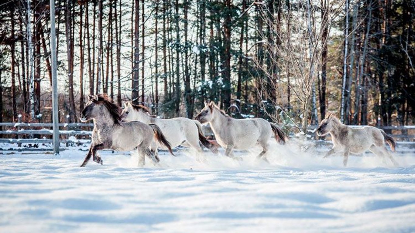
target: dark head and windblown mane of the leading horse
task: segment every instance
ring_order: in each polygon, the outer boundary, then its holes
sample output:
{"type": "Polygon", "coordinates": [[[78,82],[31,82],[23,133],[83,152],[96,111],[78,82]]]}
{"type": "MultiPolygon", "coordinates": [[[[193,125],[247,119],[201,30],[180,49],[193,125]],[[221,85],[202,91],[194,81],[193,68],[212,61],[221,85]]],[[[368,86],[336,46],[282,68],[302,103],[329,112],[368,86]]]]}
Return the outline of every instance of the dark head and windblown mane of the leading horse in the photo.
{"type": "Polygon", "coordinates": [[[91,119],[104,116],[106,113],[108,117],[114,119],[114,123],[118,124],[120,119],[120,107],[112,103],[107,94],[89,95],[89,100],[85,104],[85,108],[79,114],[79,119],[86,122],[91,119]],[[105,111],[104,109],[107,109],[105,111]]]}

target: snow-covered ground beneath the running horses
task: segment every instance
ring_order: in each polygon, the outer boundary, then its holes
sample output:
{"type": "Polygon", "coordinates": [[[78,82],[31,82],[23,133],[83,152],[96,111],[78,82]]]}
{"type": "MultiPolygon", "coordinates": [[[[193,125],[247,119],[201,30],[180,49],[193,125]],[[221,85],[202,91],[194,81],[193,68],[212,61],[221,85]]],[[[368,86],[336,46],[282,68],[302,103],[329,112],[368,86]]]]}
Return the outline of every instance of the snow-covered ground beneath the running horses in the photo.
{"type": "MultiPolygon", "coordinates": [[[[289,147],[289,146],[287,146],[289,147]]],[[[415,155],[322,158],[273,145],[242,162],[206,153],[0,154],[0,232],[414,232],[415,155]]]]}

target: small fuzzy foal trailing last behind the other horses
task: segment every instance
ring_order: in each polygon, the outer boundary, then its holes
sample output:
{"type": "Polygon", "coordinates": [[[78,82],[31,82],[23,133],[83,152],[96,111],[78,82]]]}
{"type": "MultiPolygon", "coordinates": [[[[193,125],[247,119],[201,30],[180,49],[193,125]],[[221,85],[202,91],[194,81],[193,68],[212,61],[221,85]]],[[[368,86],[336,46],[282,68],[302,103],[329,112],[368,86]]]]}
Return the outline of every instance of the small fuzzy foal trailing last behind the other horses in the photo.
{"type": "Polygon", "coordinates": [[[373,126],[363,126],[361,128],[351,128],[342,124],[333,114],[323,119],[317,128],[318,136],[325,136],[330,133],[333,141],[333,148],[327,152],[324,158],[334,154],[343,153],[343,165],[346,167],[349,153],[361,154],[370,150],[375,155],[392,161],[393,165],[398,163],[385,147],[388,143],[392,151],[395,151],[395,140],[385,133],[382,129],[373,126]]]}

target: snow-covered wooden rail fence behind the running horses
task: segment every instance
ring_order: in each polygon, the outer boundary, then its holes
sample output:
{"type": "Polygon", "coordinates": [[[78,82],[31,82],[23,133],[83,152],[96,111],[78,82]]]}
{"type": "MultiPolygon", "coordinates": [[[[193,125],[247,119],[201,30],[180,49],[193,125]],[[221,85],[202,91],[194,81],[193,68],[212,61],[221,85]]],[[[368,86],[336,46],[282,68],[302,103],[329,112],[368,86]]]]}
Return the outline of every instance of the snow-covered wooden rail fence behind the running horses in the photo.
{"type": "MultiPolygon", "coordinates": [[[[1,146],[0,150],[50,150],[52,140],[52,123],[0,123],[0,143],[17,144],[16,146],[1,146]],[[6,128],[6,129],[4,129],[6,128]],[[22,145],[24,148],[22,148],[22,145]]],[[[360,127],[360,126],[352,126],[360,127]]],[[[405,150],[415,150],[415,126],[381,126],[379,127],[390,133],[398,141],[398,146],[406,148],[405,150]]],[[[61,123],[59,124],[60,140],[63,146],[61,149],[71,146],[86,147],[90,143],[93,124],[85,123],[61,123]]],[[[308,138],[315,135],[316,126],[310,126],[308,138]]],[[[213,132],[209,125],[203,126],[206,136],[214,138],[213,132]]],[[[330,146],[331,141],[313,140],[320,146],[330,146]]]]}

